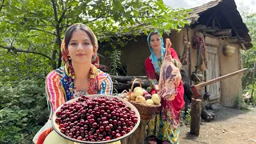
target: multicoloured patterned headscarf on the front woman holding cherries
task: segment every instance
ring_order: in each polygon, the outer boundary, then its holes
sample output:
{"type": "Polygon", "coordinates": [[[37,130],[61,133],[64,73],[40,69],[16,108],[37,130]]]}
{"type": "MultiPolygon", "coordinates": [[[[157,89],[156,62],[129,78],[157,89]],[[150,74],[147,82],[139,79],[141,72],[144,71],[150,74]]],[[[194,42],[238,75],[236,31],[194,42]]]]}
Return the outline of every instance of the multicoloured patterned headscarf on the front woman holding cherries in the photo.
{"type": "MultiPolygon", "coordinates": [[[[72,26],[70,26],[66,31],[68,31],[70,28],[74,26],[82,26],[90,30],[90,28],[86,25],[83,25],[81,23],[76,23],[72,26]]],[[[87,91],[88,94],[97,94],[98,93],[98,66],[99,66],[99,60],[98,60],[98,40],[92,30],[90,30],[91,37],[94,37],[94,54],[92,56],[92,64],[90,68],[90,89],[87,91]]],[[[89,34],[88,34],[89,35],[89,34]]],[[[92,39],[92,38],[90,38],[92,39]]],[[[61,52],[62,52],[62,61],[65,63],[64,70],[65,74],[64,77],[61,78],[62,82],[62,89],[65,91],[66,101],[73,98],[74,93],[74,69],[72,66],[71,58],[68,56],[68,50],[66,46],[66,39],[64,38],[62,41],[61,46],[61,52]]]]}

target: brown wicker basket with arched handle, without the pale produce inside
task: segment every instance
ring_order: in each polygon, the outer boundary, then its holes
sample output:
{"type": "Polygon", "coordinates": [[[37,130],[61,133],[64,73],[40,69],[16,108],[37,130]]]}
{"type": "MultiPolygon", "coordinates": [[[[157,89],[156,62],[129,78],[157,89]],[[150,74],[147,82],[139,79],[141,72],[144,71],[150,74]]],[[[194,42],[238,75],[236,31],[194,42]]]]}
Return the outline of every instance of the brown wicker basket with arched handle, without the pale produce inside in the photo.
{"type": "Polygon", "coordinates": [[[158,110],[160,110],[161,104],[160,105],[146,105],[146,103],[138,103],[138,102],[132,101],[130,99],[130,97],[131,97],[132,91],[134,90],[134,83],[136,81],[138,81],[139,86],[142,87],[141,80],[139,78],[135,78],[134,82],[130,88],[130,91],[128,92],[128,95],[129,95],[128,101],[130,103],[132,103],[137,108],[142,119],[150,119],[152,115],[154,115],[155,113],[158,112],[158,110]]]}

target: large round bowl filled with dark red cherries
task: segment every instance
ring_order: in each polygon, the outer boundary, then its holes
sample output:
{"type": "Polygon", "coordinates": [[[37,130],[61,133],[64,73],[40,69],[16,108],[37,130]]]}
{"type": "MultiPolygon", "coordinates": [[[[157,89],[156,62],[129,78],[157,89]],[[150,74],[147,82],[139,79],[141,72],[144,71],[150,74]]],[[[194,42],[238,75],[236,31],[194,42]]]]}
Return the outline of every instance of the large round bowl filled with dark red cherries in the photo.
{"type": "Polygon", "coordinates": [[[55,110],[52,124],[63,138],[79,143],[110,143],[126,138],[140,115],[122,98],[93,94],[74,98],[55,110]]]}

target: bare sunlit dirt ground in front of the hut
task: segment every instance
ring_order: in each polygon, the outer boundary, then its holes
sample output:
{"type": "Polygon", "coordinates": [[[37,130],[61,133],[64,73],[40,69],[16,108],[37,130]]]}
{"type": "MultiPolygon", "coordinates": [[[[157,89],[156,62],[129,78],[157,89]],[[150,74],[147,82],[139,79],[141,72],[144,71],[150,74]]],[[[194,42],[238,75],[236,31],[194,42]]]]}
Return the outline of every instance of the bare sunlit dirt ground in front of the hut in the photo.
{"type": "Polygon", "coordinates": [[[189,126],[181,126],[179,143],[256,144],[256,108],[238,110],[219,106],[212,122],[200,126],[198,137],[190,134],[189,126]]]}

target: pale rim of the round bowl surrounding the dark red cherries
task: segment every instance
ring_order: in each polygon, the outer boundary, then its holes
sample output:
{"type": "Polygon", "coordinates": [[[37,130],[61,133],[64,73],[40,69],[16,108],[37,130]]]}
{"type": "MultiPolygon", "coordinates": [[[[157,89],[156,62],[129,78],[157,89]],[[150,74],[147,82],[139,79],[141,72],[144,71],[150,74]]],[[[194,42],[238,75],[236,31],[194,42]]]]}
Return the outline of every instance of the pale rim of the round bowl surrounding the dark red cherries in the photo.
{"type": "MultiPolygon", "coordinates": [[[[118,98],[118,97],[116,97],[116,96],[102,95],[102,94],[92,94],[92,95],[86,95],[86,96],[91,97],[91,98],[98,98],[98,97],[101,97],[101,96],[104,96],[104,97],[106,97],[106,98],[118,98]]],[[[66,103],[75,102],[75,101],[77,101],[77,100],[78,100],[78,98],[74,98],[74,99],[71,99],[70,101],[68,101],[68,102],[66,102],[66,103]]],[[[63,105],[62,105],[62,106],[59,106],[58,109],[55,110],[54,115],[53,115],[53,118],[52,118],[52,120],[51,120],[52,125],[53,125],[53,127],[54,127],[54,130],[55,130],[59,135],[61,135],[63,138],[66,138],[66,139],[68,139],[68,140],[70,140],[70,141],[73,141],[73,142],[79,142],[79,143],[94,143],[94,144],[96,144],[96,143],[110,143],[110,142],[119,141],[119,140],[121,140],[122,138],[126,138],[127,136],[129,136],[130,134],[132,134],[132,133],[138,128],[138,125],[139,125],[141,119],[140,119],[140,115],[139,115],[139,113],[138,113],[138,110],[136,109],[136,107],[135,107],[134,105],[132,105],[130,102],[127,102],[127,101],[123,100],[122,98],[118,98],[118,100],[124,102],[124,103],[126,104],[126,106],[130,107],[130,110],[134,110],[135,116],[138,117],[138,122],[137,122],[136,125],[134,126],[134,129],[133,129],[133,130],[130,130],[129,133],[123,135],[122,137],[115,138],[115,139],[111,139],[110,141],[90,142],[90,141],[81,141],[81,140],[77,140],[77,139],[74,139],[74,138],[70,138],[70,137],[66,136],[65,134],[62,134],[62,132],[61,132],[61,131],[59,130],[59,128],[58,128],[58,124],[55,122],[55,119],[57,118],[56,112],[57,112],[58,110],[60,110],[63,105]]]]}

